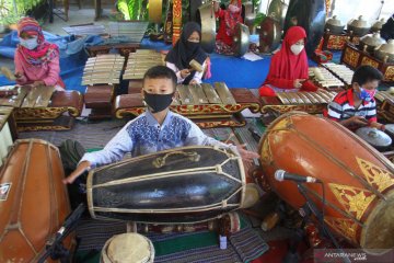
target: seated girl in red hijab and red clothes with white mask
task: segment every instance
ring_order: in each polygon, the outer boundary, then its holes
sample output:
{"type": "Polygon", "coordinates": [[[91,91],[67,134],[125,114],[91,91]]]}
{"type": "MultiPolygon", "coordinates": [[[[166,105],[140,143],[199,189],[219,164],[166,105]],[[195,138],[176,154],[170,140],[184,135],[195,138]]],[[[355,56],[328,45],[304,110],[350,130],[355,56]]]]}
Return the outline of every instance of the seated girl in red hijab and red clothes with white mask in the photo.
{"type": "Polygon", "coordinates": [[[316,91],[308,81],[306,33],[301,26],[291,26],[282,46],[270,62],[269,72],[259,89],[262,96],[275,96],[276,92],[316,91]]]}

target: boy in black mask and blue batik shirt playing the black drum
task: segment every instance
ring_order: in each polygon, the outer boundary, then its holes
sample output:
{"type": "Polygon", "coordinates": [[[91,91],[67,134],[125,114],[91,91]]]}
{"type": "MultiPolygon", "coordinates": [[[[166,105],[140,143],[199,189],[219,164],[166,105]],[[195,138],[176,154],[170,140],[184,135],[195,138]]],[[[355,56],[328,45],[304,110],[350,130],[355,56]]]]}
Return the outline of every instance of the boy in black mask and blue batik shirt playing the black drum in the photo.
{"type": "Polygon", "coordinates": [[[164,66],[149,69],[143,77],[142,96],[147,111],[117,133],[101,151],[85,153],[76,171],[63,183],[73,183],[84,171],[120,161],[127,152],[132,157],[182,146],[204,145],[236,149],[243,160],[258,155],[241,146],[230,146],[206,136],[188,118],[170,111],[176,88],[176,76],[164,66]]]}

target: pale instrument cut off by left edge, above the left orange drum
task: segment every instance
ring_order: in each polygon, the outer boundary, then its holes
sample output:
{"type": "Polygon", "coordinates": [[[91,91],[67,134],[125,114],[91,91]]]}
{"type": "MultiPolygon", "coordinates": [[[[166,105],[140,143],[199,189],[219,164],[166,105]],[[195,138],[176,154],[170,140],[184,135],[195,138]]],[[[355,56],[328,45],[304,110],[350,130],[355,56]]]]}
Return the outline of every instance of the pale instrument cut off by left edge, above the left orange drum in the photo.
{"type": "Polygon", "coordinates": [[[0,106],[0,168],[16,137],[18,133],[13,117],[13,107],[0,106]]]}

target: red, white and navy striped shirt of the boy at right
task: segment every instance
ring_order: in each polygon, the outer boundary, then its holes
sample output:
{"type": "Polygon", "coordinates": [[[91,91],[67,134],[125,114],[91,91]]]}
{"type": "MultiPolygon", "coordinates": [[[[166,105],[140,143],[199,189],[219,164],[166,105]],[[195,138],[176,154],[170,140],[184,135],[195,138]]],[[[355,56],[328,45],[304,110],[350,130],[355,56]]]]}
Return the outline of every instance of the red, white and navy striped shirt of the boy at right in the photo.
{"type": "Polygon", "coordinates": [[[361,116],[369,123],[376,122],[376,102],[372,99],[370,102],[362,101],[359,107],[355,107],[354,89],[339,92],[334,100],[328,103],[328,111],[324,115],[333,121],[340,122],[352,116],[361,116]]]}

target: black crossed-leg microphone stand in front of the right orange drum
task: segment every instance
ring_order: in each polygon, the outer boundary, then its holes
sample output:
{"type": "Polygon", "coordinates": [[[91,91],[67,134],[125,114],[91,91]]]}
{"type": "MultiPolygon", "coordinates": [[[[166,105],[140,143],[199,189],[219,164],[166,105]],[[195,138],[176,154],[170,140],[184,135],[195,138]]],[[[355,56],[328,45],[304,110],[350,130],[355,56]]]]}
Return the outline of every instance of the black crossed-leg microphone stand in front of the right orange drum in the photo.
{"type": "MultiPolygon", "coordinates": [[[[293,263],[293,262],[299,261],[300,256],[297,252],[297,248],[304,236],[303,228],[306,225],[306,222],[310,221],[312,213],[317,218],[317,221],[323,229],[323,233],[325,233],[332,240],[335,248],[337,248],[337,250],[339,250],[339,253],[343,253],[345,255],[344,250],[339,247],[339,243],[335,239],[332,231],[325,227],[324,215],[322,211],[318,210],[318,208],[316,207],[316,204],[309,197],[308,191],[306,191],[305,186],[303,185],[303,183],[297,183],[297,187],[298,187],[300,194],[302,194],[302,196],[305,198],[306,203],[300,208],[300,214],[303,217],[302,225],[299,229],[296,229],[294,236],[293,236],[292,240],[290,241],[289,252],[287,253],[283,262],[285,263],[290,263],[290,262],[293,263]]],[[[322,184],[322,187],[324,191],[323,184],[322,184]]],[[[323,194],[323,196],[324,196],[324,194],[323,194]]],[[[323,199],[323,205],[324,205],[324,202],[325,201],[323,199]]],[[[351,261],[347,256],[345,256],[343,259],[343,262],[350,263],[351,261]]]]}

